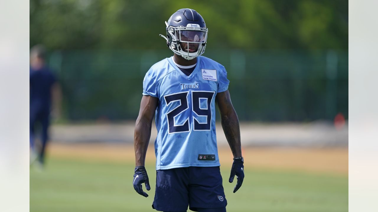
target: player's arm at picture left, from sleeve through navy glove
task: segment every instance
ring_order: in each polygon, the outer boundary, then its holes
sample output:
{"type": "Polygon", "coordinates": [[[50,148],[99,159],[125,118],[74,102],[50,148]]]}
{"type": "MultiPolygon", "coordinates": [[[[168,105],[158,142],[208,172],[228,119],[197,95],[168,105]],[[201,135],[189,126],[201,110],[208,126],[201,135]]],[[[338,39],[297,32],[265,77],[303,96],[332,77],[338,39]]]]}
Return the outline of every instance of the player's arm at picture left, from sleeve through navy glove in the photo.
{"type": "Polygon", "coordinates": [[[151,136],[151,126],[153,115],[158,104],[158,98],[144,95],[142,97],[139,115],[135,123],[134,132],[134,149],[135,149],[135,171],[133,178],[133,186],[135,191],[148,197],[148,194],[143,191],[142,183],[146,185],[146,189],[150,190],[150,183],[147,175],[144,162],[146,160],[146,152],[151,136]]]}

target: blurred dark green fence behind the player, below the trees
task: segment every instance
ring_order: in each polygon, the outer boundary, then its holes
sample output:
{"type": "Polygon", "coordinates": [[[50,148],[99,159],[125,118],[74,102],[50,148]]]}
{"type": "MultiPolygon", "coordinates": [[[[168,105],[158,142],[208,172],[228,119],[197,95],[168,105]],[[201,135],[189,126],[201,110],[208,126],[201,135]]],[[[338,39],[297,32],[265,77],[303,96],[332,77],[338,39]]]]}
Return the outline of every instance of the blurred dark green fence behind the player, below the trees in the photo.
{"type": "MultiPolygon", "coordinates": [[[[145,73],[166,50],[55,51],[49,64],[70,121],[135,120],[145,73]]],[[[348,52],[338,50],[206,50],[226,67],[240,120],[333,120],[348,117],[348,52]]]]}

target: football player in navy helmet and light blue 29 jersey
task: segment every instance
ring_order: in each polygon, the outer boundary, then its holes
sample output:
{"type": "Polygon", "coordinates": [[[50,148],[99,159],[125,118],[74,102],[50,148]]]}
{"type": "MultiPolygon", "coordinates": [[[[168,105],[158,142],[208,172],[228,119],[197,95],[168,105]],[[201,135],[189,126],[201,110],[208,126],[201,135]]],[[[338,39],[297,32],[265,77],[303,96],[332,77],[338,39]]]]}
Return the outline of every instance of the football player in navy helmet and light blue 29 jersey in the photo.
{"type": "Polygon", "coordinates": [[[166,22],[167,46],[174,55],[153,65],[143,80],[143,97],[135,124],[133,186],[144,197],[144,167],[152,119],[155,140],[156,191],[152,207],[159,211],[224,212],[227,200],[222,185],[215,133],[215,103],[234,161],[229,182],[237,177],[236,192],[244,178],[240,129],[228,92],[225,67],[201,56],[208,28],[198,12],[180,9],[166,22]]]}

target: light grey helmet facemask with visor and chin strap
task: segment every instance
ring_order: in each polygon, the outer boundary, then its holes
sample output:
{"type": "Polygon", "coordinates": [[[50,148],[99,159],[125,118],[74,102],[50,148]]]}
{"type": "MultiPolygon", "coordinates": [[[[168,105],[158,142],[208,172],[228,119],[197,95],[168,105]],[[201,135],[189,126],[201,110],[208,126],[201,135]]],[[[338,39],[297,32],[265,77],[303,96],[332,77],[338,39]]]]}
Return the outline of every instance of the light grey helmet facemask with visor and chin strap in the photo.
{"type": "Polygon", "coordinates": [[[197,24],[188,26],[168,26],[167,22],[167,45],[174,53],[181,55],[186,60],[192,60],[204,53],[208,29],[200,28],[197,24]]]}

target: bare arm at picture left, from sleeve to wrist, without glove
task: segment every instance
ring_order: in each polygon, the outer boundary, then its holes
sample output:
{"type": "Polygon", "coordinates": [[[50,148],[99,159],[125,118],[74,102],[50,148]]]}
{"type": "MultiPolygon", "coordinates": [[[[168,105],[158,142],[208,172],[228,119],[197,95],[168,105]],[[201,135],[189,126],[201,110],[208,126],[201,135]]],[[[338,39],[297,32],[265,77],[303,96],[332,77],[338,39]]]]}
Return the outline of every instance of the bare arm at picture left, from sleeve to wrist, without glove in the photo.
{"type": "Polygon", "coordinates": [[[134,131],[135,166],[144,166],[147,147],[151,137],[152,119],[155,115],[157,105],[158,98],[149,95],[142,97],[134,131]]]}

